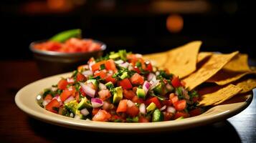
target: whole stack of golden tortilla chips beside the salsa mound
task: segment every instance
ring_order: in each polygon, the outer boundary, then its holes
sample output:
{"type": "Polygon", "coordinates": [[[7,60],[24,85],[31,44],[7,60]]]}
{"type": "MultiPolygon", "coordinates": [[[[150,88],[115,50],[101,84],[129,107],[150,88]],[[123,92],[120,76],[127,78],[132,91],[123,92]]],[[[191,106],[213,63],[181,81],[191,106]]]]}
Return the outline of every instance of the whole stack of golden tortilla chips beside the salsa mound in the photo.
{"type": "Polygon", "coordinates": [[[189,90],[196,89],[201,95],[199,106],[222,104],[256,87],[256,71],[248,66],[247,54],[199,52],[201,45],[202,41],[192,41],[169,51],[143,56],[179,76],[189,90]]]}

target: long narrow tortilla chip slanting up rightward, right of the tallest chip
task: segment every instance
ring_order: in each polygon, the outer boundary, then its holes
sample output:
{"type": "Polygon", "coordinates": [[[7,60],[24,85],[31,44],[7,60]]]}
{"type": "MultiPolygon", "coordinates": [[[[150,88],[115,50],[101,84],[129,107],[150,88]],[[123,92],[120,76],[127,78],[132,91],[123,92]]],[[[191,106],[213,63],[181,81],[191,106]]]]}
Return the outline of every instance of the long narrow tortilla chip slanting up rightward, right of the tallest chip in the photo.
{"type": "Polygon", "coordinates": [[[213,54],[198,70],[184,79],[186,87],[194,89],[199,84],[206,82],[238,53],[238,51],[234,51],[231,54],[213,54]]]}

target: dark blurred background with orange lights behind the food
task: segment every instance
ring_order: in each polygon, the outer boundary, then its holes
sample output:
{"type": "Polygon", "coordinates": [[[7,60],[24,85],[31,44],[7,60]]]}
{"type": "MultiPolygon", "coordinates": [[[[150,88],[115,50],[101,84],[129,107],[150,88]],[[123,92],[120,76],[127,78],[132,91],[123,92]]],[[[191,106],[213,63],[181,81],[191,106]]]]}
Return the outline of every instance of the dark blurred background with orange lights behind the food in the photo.
{"type": "Polygon", "coordinates": [[[32,59],[32,41],[76,28],[104,41],[107,51],[147,54],[202,40],[201,51],[239,50],[255,58],[255,14],[248,1],[1,0],[0,8],[1,60],[32,59]]]}

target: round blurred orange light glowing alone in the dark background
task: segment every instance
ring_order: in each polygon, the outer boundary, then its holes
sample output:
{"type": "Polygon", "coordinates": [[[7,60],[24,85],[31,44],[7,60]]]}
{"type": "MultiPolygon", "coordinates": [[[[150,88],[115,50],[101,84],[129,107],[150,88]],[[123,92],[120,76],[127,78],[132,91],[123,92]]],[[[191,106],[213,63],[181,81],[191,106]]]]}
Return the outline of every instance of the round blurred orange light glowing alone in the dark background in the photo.
{"type": "Polygon", "coordinates": [[[166,19],[166,28],[171,33],[178,33],[182,30],[183,26],[183,18],[178,14],[170,15],[166,19]]]}

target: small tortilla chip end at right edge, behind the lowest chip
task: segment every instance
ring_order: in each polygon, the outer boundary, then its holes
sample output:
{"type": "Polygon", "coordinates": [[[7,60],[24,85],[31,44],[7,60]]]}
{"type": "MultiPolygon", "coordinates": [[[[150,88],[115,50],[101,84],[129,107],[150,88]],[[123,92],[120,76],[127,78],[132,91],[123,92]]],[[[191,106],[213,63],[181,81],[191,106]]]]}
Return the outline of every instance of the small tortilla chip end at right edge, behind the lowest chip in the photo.
{"type": "Polygon", "coordinates": [[[237,83],[236,86],[242,89],[240,93],[250,92],[252,89],[256,88],[256,79],[246,79],[237,83]]]}

